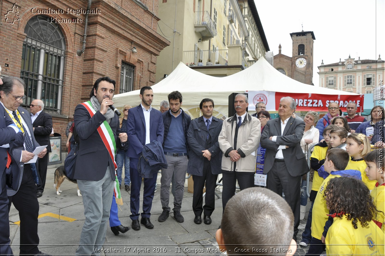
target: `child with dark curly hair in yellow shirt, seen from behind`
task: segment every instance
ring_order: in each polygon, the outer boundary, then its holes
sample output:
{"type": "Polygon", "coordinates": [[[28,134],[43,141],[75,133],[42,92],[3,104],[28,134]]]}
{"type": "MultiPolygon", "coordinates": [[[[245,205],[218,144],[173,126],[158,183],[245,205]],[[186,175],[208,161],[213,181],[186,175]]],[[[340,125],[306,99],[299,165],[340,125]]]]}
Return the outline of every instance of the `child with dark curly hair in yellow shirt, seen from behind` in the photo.
{"type": "Polygon", "coordinates": [[[328,256],[384,255],[384,233],[372,221],[378,211],[361,180],[331,179],[324,197],[328,209],[334,212],[325,240],[328,256]]]}

